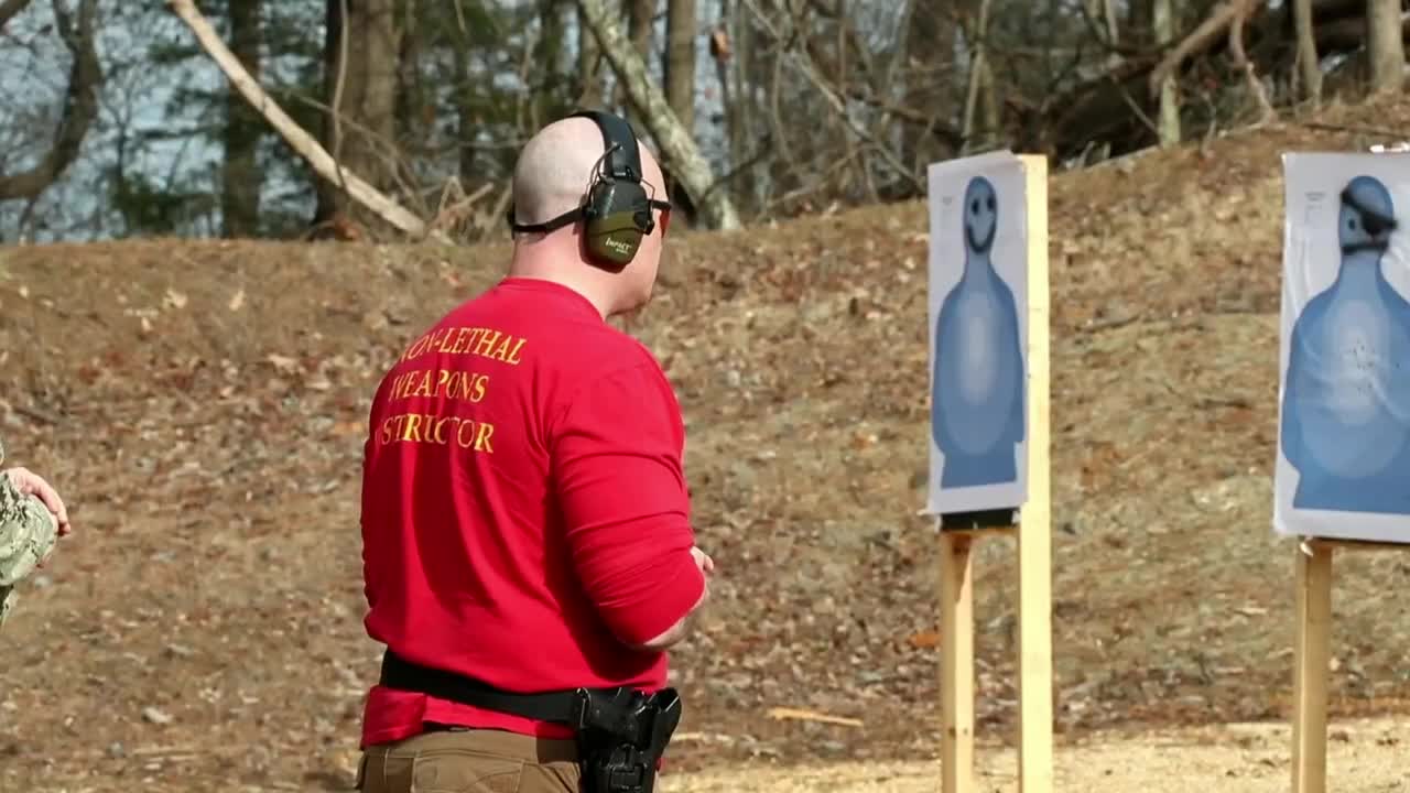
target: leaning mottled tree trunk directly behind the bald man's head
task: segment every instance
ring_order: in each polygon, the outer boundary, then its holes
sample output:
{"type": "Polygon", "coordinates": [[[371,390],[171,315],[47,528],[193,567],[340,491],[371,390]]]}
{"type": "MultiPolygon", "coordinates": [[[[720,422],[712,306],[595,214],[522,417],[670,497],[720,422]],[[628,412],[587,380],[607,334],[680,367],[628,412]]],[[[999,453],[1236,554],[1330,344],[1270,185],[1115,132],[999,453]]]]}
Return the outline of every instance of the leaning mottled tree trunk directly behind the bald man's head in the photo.
{"type": "Polygon", "coordinates": [[[578,0],[582,20],[602,45],[618,80],[627,96],[642,107],[646,124],[681,185],[701,207],[705,222],[713,229],[739,229],[739,214],[725,190],[709,190],[713,176],[709,162],[701,155],[695,140],[671,113],[661,89],[646,73],[646,63],[616,27],[603,0],[578,0]]]}

